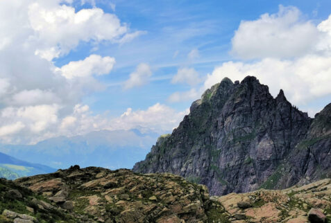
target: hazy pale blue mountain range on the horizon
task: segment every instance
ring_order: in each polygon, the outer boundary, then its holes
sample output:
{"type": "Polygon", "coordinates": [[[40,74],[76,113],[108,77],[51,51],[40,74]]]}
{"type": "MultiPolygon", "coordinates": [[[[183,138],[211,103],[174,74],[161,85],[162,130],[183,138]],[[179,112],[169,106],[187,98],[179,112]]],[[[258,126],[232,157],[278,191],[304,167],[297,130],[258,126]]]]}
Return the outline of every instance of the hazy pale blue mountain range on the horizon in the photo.
{"type": "Polygon", "coordinates": [[[154,132],[102,130],[74,137],[60,136],[35,145],[0,145],[0,152],[57,169],[75,164],[132,168],[144,159],[156,139],[158,134],[154,132]]]}

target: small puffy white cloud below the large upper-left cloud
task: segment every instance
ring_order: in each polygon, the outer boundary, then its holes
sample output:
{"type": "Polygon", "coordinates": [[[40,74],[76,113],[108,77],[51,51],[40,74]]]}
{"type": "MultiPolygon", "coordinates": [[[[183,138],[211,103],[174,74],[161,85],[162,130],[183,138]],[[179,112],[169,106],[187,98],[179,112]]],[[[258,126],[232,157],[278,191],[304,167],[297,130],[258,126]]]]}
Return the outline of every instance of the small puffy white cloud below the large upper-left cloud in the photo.
{"type": "Polygon", "coordinates": [[[114,57],[101,57],[90,55],[85,60],[71,61],[69,64],[57,69],[67,79],[82,78],[92,75],[108,74],[115,64],[114,57]]]}

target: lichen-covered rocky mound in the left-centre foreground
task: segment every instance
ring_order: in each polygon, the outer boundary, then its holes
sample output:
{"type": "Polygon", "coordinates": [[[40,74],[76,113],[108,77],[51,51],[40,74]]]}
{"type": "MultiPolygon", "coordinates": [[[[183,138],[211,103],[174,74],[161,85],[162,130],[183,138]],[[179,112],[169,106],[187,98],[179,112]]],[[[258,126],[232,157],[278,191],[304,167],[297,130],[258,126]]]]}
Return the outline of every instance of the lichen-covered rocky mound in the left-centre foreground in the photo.
{"type": "MultiPolygon", "coordinates": [[[[172,174],[69,168],[61,170],[61,176],[52,173],[15,182],[43,193],[80,222],[207,222],[211,210],[218,213],[214,220],[228,216],[221,204],[208,205],[205,186],[172,174]],[[51,184],[56,187],[49,187],[51,184]],[[59,197],[63,198],[60,202],[56,200],[59,197]]],[[[35,204],[42,205],[40,201],[35,204]]]]}

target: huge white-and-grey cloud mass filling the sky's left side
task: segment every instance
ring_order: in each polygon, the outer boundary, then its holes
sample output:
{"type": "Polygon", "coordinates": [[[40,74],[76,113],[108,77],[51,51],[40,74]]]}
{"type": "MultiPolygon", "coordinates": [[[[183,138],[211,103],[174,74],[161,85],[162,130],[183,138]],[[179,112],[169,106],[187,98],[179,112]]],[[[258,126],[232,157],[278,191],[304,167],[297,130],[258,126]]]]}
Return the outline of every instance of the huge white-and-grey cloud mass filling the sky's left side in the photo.
{"type": "Polygon", "coordinates": [[[75,10],[71,3],[0,1],[1,143],[36,143],[106,126],[106,118],[80,102],[87,93],[103,89],[94,77],[110,73],[114,58],[90,55],[62,67],[52,60],[80,42],[121,44],[142,32],[131,32],[101,8],[75,10]]]}

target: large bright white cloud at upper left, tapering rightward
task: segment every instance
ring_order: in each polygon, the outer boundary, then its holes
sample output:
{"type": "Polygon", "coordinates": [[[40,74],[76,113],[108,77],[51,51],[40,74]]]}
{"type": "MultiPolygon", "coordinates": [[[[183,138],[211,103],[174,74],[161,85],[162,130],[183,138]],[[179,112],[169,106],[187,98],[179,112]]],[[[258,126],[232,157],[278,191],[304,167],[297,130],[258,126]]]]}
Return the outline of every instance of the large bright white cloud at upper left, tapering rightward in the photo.
{"type": "Polygon", "coordinates": [[[31,42],[38,42],[36,54],[47,60],[64,55],[78,46],[80,41],[128,42],[142,31],[129,33],[116,15],[101,8],[82,9],[75,12],[71,6],[46,7],[36,2],[28,6],[28,21],[35,32],[31,42]]]}

